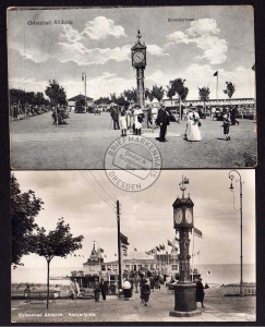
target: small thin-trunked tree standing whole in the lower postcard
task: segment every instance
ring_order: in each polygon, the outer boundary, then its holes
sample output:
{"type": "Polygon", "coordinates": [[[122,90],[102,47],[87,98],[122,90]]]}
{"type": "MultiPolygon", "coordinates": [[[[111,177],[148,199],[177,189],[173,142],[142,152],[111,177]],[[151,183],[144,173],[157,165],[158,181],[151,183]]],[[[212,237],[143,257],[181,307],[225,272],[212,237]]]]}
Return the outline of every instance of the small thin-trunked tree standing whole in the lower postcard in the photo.
{"type": "Polygon", "coordinates": [[[48,233],[44,228],[39,228],[37,234],[33,235],[32,243],[35,249],[33,253],[44,256],[47,262],[47,308],[49,308],[49,277],[50,262],[55,256],[67,257],[68,254],[82,249],[84,237],[73,238],[69,223],[64,223],[63,218],[57,222],[55,230],[48,233]]]}

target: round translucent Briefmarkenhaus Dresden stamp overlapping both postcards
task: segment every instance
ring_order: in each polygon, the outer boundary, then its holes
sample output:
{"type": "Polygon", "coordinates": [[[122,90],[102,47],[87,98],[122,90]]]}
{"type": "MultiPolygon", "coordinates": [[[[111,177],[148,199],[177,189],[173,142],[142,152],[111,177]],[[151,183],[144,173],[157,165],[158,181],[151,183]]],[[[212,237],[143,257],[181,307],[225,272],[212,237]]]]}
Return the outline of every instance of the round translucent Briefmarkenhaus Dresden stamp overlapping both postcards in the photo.
{"type": "Polygon", "coordinates": [[[140,192],[156,182],[161,156],[157,146],[140,135],[119,137],[105,155],[106,174],[110,182],[127,192],[140,192]]]}

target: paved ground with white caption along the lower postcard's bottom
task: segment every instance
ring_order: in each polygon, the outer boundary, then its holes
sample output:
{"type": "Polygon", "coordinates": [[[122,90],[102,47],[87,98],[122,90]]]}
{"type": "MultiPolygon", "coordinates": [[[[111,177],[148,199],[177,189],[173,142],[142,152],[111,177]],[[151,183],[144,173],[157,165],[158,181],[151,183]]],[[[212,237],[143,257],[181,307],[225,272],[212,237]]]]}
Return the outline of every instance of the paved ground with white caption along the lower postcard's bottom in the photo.
{"type": "MultiPolygon", "coordinates": [[[[239,299],[239,298],[238,298],[239,299]]],[[[50,302],[49,310],[46,310],[46,302],[33,301],[25,303],[24,300],[12,301],[12,322],[13,323],[84,323],[84,322],[157,322],[157,323],[206,323],[206,322],[255,322],[255,313],[246,313],[242,307],[249,303],[254,304],[255,296],[240,298],[241,304],[237,306],[229,304],[231,298],[220,298],[220,302],[227,305],[215,303],[213,295],[205,298],[205,307],[198,311],[202,315],[194,317],[171,317],[169,312],[173,311],[174,295],[166,287],[160,291],[150,293],[148,306],[144,306],[138,293],[133,294],[129,301],[118,299],[116,295],[107,296],[107,301],[96,303],[94,300],[57,300],[50,302]],[[240,311],[241,307],[241,311],[240,311]]]]}

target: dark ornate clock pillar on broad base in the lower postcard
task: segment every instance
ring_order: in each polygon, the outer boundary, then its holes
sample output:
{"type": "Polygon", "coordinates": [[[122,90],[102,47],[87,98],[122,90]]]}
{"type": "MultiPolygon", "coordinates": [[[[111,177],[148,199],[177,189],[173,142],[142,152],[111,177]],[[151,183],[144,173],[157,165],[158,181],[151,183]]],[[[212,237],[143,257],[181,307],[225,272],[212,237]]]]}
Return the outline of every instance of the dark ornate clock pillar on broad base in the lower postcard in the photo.
{"type": "Polygon", "coordinates": [[[182,177],[180,182],[180,190],[182,197],[173,203],[173,228],[179,232],[179,270],[180,278],[174,286],[174,311],[169,312],[170,316],[191,317],[201,315],[202,312],[196,310],[195,303],[195,283],[191,281],[190,267],[190,239],[189,234],[193,229],[193,202],[190,195],[185,197],[184,191],[189,184],[189,180],[182,177]]]}

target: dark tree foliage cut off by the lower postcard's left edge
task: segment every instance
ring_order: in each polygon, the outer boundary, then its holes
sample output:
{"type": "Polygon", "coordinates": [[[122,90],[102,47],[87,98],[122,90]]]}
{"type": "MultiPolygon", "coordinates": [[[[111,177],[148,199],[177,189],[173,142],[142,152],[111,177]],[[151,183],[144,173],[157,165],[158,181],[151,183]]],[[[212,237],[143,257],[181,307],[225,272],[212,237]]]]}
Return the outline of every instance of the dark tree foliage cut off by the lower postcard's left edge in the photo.
{"type": "Polygon", "coordinates": [[[12,229],[12,264],[15,268],[21,264],[23,255],[33,250],[31,238],[36,230],[35,217],[41,210],[43,201],[33,191],[22,193],[20,184],[11,174],[11,229],[12,229]]]}

